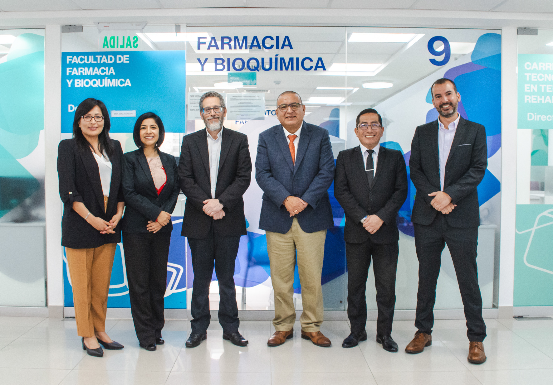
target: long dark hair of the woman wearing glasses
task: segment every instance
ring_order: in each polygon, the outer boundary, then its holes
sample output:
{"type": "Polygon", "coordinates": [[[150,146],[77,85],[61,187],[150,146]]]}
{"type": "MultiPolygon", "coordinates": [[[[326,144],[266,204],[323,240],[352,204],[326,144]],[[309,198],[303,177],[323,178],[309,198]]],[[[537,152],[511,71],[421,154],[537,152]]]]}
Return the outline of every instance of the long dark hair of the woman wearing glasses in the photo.
{"type": "Polygon", "coordinates": [[[90,147],[93,150],[92,145],[86,140],[85,135],[82,134],[82,130],[79,127],[79,122],[84,115],[86,115],[94,107],[100,107],[102,115],[104,117],[104,126],[102,132],[98,134],[98,150],[102,153],[106,153],[108,159],[113,155],[114,147],[111,144],[111,139],[109,139],[109,128],[111,123],[109,122],[109,112],[106,108],[106,105],[102,101],[99,101],[95,98],[88,98],[82,101],[79,106],[75,109],[75,117],[73,118],[73,138],[77,142],[77,146],[81,149],[87,149],[90,147]]]}

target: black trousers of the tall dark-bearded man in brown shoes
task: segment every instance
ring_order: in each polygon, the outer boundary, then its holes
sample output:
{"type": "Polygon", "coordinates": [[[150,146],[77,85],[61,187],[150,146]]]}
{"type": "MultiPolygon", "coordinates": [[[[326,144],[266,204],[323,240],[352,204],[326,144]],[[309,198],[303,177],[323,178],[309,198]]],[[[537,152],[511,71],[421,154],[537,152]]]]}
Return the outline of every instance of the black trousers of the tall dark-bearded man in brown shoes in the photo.
{"type": "Polygon", "coordinates": [[[468,340],[482,342],[486,338],[486,324],[482,319],[482,296],[476,265],[478,228],[452,228],[441,213],[436,215],[430,225],[415,223],[414,226],[416,255],[419,259],[416,328],[422,333],[432,333],[436,283],[442,251],[447,244],[465,308],[468,340]]]}

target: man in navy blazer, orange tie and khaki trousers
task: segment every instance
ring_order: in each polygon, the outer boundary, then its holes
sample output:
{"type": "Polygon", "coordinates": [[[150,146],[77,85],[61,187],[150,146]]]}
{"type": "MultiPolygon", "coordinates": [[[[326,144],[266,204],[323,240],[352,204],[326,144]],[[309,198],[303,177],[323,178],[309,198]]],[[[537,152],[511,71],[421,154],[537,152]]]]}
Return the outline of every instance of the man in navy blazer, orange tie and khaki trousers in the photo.
{"type": "Polygon", "coordinates": [[[267,235],[275,300],[276,332],[267,345],[278,346],[294,336],[297,257],[301,337],[330,346],[320,332],[326,229],[334,225],[327,193],[334,178],[330,138],[324,128],[304,122],[305,106],[298,93],[281,93],[276,106],[280,124],[259,134],[255,160],[255,180],[263,190],[259,228],[267,235]]]}

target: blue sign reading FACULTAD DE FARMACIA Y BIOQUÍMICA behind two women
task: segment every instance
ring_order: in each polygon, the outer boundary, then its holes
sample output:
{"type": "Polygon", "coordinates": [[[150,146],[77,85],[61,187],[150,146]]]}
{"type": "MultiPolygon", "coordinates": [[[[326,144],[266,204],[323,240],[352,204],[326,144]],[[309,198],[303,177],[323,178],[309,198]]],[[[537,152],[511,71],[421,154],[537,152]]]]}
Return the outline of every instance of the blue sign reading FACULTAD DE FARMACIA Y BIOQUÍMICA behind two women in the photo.
{"type": "Polygon", "coordinates": [[[154,112],[165,131],[186,132],[185,51],[63,52],[61,132],[71,133],[86,98],[106,104],[112,133],[132,133],[137,117],[154,112]]]}

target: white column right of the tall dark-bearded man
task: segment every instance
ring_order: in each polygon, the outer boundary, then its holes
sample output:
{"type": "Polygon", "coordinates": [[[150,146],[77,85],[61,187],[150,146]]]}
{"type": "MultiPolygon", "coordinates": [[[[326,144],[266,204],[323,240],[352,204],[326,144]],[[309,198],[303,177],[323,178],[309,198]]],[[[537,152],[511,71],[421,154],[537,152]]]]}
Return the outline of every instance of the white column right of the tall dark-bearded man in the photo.
{"type": "MultiPolygon", "coordinates": [[[[501,36],[501,240],[499,254],[499,317],[513,317],[515,213],[517,208],[517,28],[501,36]]],[[[526,173],[530,175],[530,170],[526,173]]],[[[530,193],[530,183],[528,183],[530,193]]]]}

